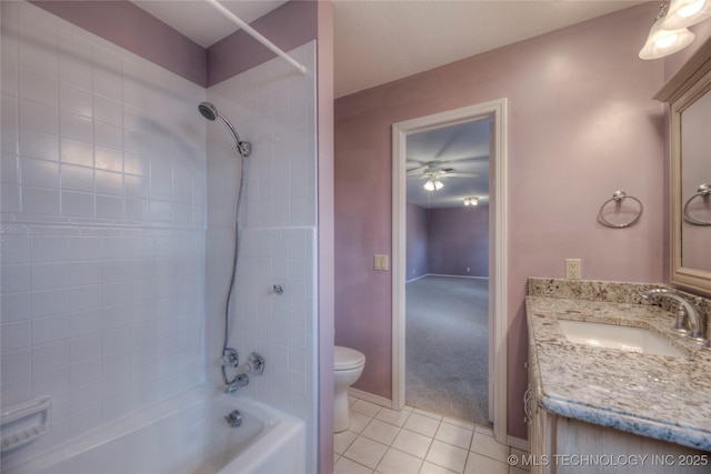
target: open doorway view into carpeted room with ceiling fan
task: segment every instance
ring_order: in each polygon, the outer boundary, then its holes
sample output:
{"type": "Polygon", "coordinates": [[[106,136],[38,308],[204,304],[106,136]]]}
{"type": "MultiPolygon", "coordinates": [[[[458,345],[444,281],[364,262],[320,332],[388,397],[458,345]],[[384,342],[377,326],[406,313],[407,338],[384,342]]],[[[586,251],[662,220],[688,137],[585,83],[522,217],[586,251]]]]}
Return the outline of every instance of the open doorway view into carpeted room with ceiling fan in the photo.
{"type": "Polygon", "coordinates": [[[485,118],[405,139],[405,403],[479,425],[491,424],[491,127],[485,118]]]}

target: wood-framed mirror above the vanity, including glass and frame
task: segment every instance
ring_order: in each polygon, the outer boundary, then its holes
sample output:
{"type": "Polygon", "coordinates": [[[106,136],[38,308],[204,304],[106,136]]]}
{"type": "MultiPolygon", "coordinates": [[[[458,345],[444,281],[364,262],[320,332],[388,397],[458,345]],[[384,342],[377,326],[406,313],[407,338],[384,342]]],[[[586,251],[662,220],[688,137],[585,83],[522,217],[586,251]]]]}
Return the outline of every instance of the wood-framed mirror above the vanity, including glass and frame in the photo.
{"type": "Polygon", "coordinates": [[[657,99],[671,105],[670,281],[711,294],[711,39],[657,99]]]}

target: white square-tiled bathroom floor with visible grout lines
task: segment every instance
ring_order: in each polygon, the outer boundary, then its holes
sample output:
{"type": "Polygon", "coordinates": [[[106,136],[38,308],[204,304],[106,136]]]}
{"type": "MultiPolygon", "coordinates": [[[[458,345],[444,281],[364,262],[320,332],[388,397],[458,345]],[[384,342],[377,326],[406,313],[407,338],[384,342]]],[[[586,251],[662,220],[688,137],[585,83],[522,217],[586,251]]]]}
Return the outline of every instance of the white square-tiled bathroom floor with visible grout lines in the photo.
{"type": "Polygon", "coordinates": [[[490,427],[410,406],[349,403],[351,425],[334,435],[337,474],[528,474],[507,463],[524,453],[497,443],[490,427]]]}

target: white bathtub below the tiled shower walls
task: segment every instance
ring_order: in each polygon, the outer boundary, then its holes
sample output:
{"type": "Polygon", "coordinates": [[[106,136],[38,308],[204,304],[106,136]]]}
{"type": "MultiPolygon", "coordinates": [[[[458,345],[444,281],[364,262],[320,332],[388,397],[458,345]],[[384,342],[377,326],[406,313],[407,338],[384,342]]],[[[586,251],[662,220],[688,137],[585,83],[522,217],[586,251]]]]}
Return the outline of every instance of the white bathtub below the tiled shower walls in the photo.
{"type": "Polygon", "coordinates": [[[2,472],[306,474],[306,423],[202,385],[2,472]],[[232,410],[239,427],[223,418],[232,410]]]}

